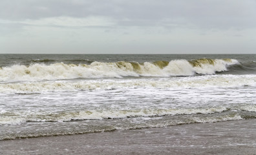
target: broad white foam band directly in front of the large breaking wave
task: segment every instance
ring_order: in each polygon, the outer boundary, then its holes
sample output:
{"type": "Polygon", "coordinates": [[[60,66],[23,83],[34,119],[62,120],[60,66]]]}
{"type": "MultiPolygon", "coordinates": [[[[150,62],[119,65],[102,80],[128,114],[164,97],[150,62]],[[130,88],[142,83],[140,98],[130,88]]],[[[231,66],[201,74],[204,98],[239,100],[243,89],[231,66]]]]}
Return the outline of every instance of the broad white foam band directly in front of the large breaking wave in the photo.
{"type": "Polygon", "coordinates": [[[180,78],[98,79],[77,81],[34,81],[0,83],[0,92],[40,93],[74,92],[81,90],[112,90],[122,88],[231,88],[256,86],[256,75],[215,75],[180,78]]]}

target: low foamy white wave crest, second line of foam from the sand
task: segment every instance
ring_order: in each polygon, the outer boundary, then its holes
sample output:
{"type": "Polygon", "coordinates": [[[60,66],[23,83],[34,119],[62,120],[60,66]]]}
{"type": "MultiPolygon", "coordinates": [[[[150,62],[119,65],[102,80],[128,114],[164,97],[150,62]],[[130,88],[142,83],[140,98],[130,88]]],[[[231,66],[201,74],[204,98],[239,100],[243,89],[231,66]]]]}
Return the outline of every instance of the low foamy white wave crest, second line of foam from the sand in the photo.
{"type": "Polygon", "coordinates": [[[26,121],[70,121],[83,119],[107,119],[107,118],[131,118],[150,117],[165,115],[190,115],[190,114],[213,114],[227,110],[226,107],[219,108],[165,108],[165,109],[134,109],[134,110],[82,110],[78,112],[40,113],[27,112],[2,114],[0,124],[20,124],[26,121]]]}

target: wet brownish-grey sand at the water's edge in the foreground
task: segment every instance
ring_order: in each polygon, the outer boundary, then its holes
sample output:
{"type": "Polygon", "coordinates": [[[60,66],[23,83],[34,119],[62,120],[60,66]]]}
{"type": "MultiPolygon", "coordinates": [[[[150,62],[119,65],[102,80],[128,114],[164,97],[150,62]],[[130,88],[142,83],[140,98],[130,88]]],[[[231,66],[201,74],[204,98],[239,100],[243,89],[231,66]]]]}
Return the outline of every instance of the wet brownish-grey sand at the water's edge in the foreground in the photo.
{"type": "Polygon", "coordinates": [[[256,119],[5,140],[0,154],[256,154],[256,119]]]}

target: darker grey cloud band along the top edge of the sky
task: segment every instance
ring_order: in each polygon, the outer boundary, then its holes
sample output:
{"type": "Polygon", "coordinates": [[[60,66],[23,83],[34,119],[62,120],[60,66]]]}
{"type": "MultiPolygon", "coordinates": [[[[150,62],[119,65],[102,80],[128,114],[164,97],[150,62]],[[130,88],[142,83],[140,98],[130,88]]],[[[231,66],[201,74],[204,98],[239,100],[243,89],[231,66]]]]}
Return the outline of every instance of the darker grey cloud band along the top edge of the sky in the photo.
{"type": "Polygon", "coordinates": [[[0,18],[107,16],[120,26],[251,28],[256,26],[255,8],[254,0],[2,0],[0,18]]]}

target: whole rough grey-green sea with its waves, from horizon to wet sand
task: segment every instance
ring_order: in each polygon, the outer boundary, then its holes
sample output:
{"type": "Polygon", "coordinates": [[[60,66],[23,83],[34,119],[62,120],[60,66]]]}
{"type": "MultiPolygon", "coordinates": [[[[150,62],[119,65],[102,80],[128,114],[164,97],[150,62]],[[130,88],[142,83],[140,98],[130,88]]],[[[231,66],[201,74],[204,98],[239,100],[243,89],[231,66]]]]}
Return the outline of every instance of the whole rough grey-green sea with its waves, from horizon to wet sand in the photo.
{"type": "Polygon", "coordinates": [[[256,55],[0,54],[0,140],[256,118],[256,55]]]}

